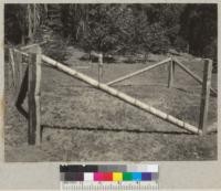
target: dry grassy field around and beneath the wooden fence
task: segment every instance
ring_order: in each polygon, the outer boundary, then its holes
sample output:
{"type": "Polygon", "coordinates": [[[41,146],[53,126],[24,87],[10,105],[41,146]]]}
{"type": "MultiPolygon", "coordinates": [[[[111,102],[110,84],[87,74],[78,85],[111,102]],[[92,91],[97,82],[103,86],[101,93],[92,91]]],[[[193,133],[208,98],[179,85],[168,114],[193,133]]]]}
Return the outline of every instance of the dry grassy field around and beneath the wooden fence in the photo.
{"type": "MultiPolygon", "coordinates": [[[[66,63],[97,78],[97,65],[66,63]]],[[[202,61],[180,57],[202,76],[202,61]]],[[[143,68],[147,64],[105,64],[103,82],[143,68]]],[[[138,108],[113,98],[53,68],[42,67],[42,144],[29,146],[28,123],[15,109],[6,64],[6,161],[155,161],[217,160],[217,134],[197,136],[138,108]]],[[[175,87],[168,88],[165,66],[117,85],[119,91],[198,126],[201,86],[176,67],[175,87]]],[[[217,75],[212,76],[217,87],[217,75]]],[[[25,104],[24,104],[25,105],[25,104]]],[[[217,123],[217,98],[210,98],[209,126],[217,123]]]]}

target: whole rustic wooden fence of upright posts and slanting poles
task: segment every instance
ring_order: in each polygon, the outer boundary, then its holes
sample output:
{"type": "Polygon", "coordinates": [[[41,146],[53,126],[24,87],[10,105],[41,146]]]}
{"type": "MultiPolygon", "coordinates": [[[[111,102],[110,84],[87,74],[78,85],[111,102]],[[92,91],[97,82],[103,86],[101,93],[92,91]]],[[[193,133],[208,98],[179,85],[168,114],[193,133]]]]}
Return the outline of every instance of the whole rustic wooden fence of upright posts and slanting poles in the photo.
{"type": "MultiPolygon", "coordinates": [[[[22,49],[24,51],[25,49],[22,49]]],[[[28,118],[29,121],[29,131],[28,131],[28,141],[30,145],[40,145],[41,142],[41,118],[40,118],[40,83],[41,83],[41,65],[46,64],[52,66],[53,68],[56,68],[74,78],[77,78],[80,81],[83,81],[86,84],[90,84],[91,86],[98,88],[118,99],[124,100],[127,104],[130,104],[141,110],[145,110],[160,119],[164,119],[168,123],[171,123],[173,125],[177,125],[180,128],[183,128],[188,131],[191,131],[193,134],[206,134],[207,132],[207,118],[208,118],[208,107],[209,107],[209,97],[210,97],[210,91],[213,94],[217,94],[214,89],[211,88],[211,72],[212,72],[212,61],[211,60],[204,60],[204,71],[203,71],[203,79],[201,79],[199,76],[197,76],[193,72],[191,72],[189,68],[187,68],[181,62],[179,62],[177,59],[169,57],[165,61],[161,61],[157,64],[147,66],[143,70],[139,70],[137,72],[130,73],[128,75],[122,76],[115,81],[112,81],[107,84],[103,84],[98,81],[83,74],[80,72],[76,72],[73,68],[70,68],[65,66],[64,64],[54,61],[53,59],[43,55],[41,53],[40,46],[33,45],[31,49],[29,49],[27,52],[22,52],[18,49],[10,49],[10,63],[13,67],[12,76],[15,76],[15,68],[18,67],[20,71],[19,76],[19,83],[18,83],[18,96],[15,99],[17,108],[24,115],[24,117],[28,118]],[[23,64],[25,67],[25,71],[23,75],[21,75],[21,65],[22,61],[25,61],[28,64],[23,64]],[[168,64],[169,66],[169,74],[168,74],[168,87],[172,87],[173,83],[173,75],[175,75],[175,66],[179,65],[183,71],[186,71],[189,75],[191,75],[194,79],[197,79],[199,83],[202,84],[202,95],[201,95],[201,106],[200,106],[200,123],[199,127],[192,126],[183,120],[180,120],[171,115],[168,115],[159,109],[156,109],[134,97],[130,97],[129,95],[119,92],[110,85],[122,82],[124,79],[127,79],[129,77],[133,77],[135,75],[141,74],[144,72],[147,72],[151,68],[155,68],[157,66],[160,66],[162,64],[168,64]],[[17,66],[17,67],[15,67],[17,66]],[[28,95],[29,99],[29,110],[25,112],[22,108],[22,103],[28,95]]],[[[101,60],[99,60],[101,62],[101,60]]]]}

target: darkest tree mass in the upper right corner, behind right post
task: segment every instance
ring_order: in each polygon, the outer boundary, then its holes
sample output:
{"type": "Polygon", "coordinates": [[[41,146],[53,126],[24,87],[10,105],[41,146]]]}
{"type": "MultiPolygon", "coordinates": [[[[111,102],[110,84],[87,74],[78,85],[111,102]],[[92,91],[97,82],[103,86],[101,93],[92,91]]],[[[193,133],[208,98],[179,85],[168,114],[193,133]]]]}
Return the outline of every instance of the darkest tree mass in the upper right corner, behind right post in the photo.
{"type": "Polygon", "coordinates": [[[180,23],[190,53],[217,60],[217,4],[187,4],[180,23]]]}

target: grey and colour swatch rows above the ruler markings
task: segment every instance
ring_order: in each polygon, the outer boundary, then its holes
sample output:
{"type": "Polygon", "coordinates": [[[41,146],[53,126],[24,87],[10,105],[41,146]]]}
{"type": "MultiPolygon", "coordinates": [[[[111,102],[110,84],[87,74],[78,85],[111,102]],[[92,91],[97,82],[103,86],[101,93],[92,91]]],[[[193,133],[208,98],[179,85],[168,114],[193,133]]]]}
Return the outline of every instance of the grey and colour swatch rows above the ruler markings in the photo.
{"type": "Polygon", "coordinates": [[[61,181],[157,181],[158,166],[60,166],[61,181]]]}

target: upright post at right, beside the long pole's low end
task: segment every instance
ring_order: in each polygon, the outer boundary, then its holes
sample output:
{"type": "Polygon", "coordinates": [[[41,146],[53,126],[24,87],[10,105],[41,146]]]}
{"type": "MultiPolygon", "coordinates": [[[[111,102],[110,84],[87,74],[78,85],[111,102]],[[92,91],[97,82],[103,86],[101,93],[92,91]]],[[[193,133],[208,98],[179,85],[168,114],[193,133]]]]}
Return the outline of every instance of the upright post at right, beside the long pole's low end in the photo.
{"type": "Polygon", "coordinates": [[[199,129],[202,130],[202,134],[207,132],[206,128],[208,125],[207,123],[208,123],[211,77],[212,77],[212,61],[207,59],[204,60],[204,68],[203,68],[203,82],[202,82],[201,105],[200,105],[200,123],[199,123],[199,129]]]}

